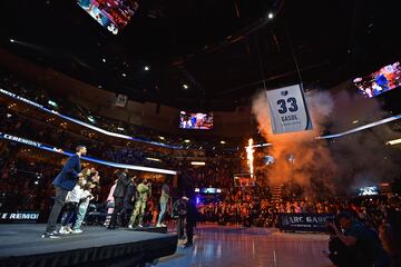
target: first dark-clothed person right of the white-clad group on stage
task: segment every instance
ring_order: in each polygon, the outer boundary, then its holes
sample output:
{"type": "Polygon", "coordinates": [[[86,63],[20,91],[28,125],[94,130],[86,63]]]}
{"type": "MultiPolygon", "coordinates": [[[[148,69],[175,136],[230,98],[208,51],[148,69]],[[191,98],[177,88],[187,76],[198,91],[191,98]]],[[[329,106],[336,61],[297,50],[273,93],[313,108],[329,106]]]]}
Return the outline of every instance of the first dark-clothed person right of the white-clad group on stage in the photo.
{"type": "Polygon", "coordinates": [[[108,229],[115,229],[117,225],[117,216],[121,212],[124,208],[124,198],[127,192],[127,187],[130,184],[130,179],[128,177],[128,169],[125,169],[119,176],[117,180],[116,189],[113,194],[113,197],[115,199],[115,209],[111,215],[111,220],[108,229]]]}

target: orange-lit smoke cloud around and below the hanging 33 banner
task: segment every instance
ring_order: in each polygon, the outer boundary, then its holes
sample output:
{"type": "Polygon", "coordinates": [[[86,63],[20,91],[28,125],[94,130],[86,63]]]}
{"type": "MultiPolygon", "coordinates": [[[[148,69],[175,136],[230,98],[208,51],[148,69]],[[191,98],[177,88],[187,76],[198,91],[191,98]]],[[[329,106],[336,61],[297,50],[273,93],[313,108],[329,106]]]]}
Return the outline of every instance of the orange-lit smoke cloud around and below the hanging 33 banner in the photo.
{"type": "Polygon", "coordinates": [[[295,181],[309,195],[314,195],[313,186],[319,185],[334,190],[332,178],[336,166],[332,160],[325,141],[317,141],[324,123],[333,110],[333,100],[326,92],[312,91],[306,96],[306,105],[312,118],[313,130],[273,135],[266,93],[258,92],[253,99],[253,113],[258,129],[267,142],[272,142],[270,154],[275,162],[266,167],[268,182],[283,184],[295,181]]]}

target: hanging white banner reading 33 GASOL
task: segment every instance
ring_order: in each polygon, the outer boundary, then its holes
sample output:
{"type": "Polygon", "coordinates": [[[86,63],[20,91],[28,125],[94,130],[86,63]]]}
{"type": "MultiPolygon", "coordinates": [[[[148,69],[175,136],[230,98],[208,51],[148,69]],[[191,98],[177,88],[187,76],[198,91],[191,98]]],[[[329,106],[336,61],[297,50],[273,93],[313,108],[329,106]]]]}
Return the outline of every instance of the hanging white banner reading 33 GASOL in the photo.
{"type": "Polygon", "coordinates": [[[312,130],[300,85],[266,91],[273,134],[312,130]]]}

